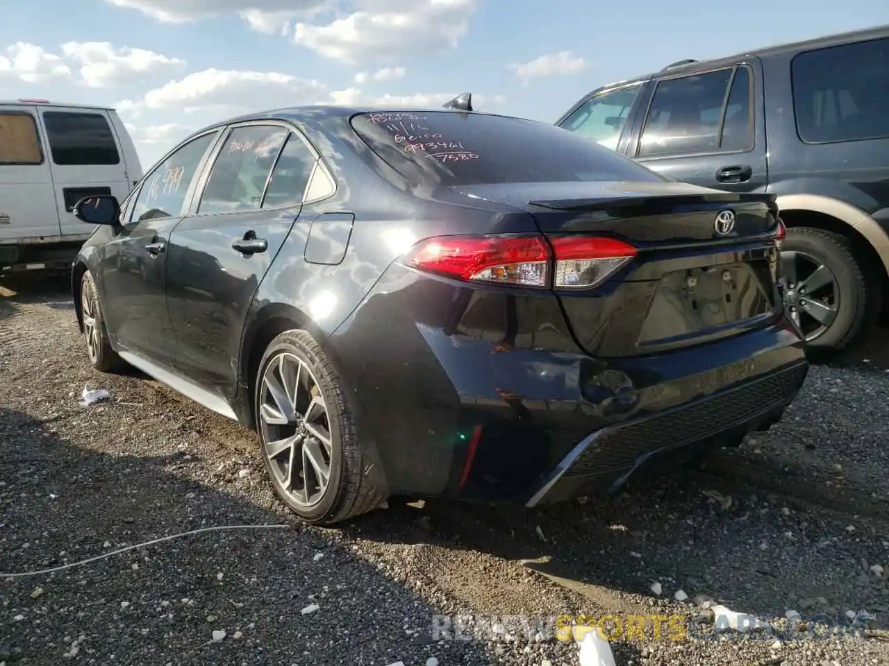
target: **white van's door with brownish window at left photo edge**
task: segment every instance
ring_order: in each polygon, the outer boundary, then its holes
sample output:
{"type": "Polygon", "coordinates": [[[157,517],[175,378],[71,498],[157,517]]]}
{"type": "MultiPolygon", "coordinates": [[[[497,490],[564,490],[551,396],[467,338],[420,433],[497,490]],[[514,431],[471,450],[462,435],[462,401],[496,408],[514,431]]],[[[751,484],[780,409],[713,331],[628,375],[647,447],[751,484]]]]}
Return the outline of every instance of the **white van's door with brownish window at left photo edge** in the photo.
{"type": "Polygon", "coordinates": [[[60,234],[50,156],[38,127],[36,107],[0,106],[0,243],[60,234]]]}

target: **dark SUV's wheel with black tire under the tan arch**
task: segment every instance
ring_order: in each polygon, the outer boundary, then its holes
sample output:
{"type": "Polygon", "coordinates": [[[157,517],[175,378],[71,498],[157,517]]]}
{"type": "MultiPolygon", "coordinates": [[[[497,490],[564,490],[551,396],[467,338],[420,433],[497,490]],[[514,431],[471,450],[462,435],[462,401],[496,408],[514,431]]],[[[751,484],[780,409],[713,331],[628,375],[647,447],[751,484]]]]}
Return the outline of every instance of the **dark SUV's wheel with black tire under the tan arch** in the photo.
{"type": "MultiPolygon", "coordinates": [[[[853,243],[841,234],[808,226],[795,226],[787,230],[787,238],[781,250],[781,258],[785,266],[785,276],[790,282],[788,262],[791,254],[795,254],[797,268],[804,266],[823,266],[834,279],[833,285],[813,292],[809,300],[816,303],[832,303],[836,314],[829,324],[824,325],[805,313],[809,305],[806,299],[809,293],[794,293],[788,305],[792,311],[797,307],[796,316],[804,324],[804,333],[810,350],[814,353],[839,353],[844,351],[876,321],[877,308],[882,295],[882,282],[871,277],[861,259],[853,252],[853,243]],[[830,295],[827,295],[831,292],[830,295]],[[794,300],[795,299],[795,300],[794,300]],[[796,303],[797,305],[794,305],[796,303]],[[819,328],[820,327],[820,328],[819,328]]],[[[800,277],[798,285],[804,285],[805,278],[800,277]]]]}

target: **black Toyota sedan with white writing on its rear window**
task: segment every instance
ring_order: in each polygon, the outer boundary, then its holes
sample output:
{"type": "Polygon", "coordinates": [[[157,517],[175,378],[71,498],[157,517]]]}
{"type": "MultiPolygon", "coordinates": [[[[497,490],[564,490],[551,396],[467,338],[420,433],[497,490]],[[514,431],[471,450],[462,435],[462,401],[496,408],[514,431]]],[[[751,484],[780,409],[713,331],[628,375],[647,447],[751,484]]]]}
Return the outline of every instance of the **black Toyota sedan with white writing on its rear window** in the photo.
{"type": "Polygon", "coordinates": [[[255,430],[318,523],[607,492],[778,420],[807,365],[773,196],[469,108],[239,117],[78,202],[92,365],[255,430]]]}

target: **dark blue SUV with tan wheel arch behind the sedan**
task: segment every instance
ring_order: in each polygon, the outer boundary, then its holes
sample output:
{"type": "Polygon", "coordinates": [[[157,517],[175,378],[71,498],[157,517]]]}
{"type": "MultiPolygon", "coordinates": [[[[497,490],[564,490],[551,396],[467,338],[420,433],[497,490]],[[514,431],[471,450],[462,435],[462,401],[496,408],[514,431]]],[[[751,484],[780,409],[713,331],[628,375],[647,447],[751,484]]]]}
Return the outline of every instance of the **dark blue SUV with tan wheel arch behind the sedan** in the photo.
{"type": "Polygon", "coordinates": [[[778,194],[786,298],[810,347],[848,347],[889,274],[889,27],[682,60],[557,121],[672,180],[778,194]]]}

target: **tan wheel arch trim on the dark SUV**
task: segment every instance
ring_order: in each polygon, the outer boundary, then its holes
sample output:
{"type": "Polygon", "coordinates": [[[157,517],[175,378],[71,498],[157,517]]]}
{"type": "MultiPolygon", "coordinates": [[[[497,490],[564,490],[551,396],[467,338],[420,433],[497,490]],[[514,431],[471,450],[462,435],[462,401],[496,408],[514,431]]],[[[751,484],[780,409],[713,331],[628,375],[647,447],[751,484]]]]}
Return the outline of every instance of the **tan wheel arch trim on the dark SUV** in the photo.
{"type": "Polygon", "coordinates": [[[785,194],[777,198],[781,219],[789,228],[813,226],[844,235],[853,242],[864,266],[889,293],[889,235],[874,218],[848,203],[817,194],[785,194]]]}

